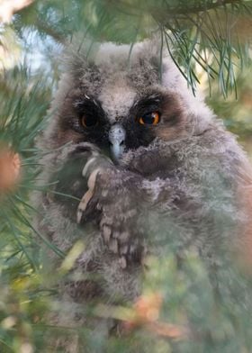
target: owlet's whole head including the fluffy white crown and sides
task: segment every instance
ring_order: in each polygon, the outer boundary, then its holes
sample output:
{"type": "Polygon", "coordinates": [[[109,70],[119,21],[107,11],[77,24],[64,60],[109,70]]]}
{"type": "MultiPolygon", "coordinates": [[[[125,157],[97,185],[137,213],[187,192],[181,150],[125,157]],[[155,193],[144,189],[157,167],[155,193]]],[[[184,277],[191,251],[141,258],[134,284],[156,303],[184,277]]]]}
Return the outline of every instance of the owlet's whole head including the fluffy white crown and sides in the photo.
{"type": "Polygon", "coordinates": [[[157,139],[201,133],[212,115],[154,41],[72,52],[50,113],[50,147],[88,141],[115,159],[157,139]]]}

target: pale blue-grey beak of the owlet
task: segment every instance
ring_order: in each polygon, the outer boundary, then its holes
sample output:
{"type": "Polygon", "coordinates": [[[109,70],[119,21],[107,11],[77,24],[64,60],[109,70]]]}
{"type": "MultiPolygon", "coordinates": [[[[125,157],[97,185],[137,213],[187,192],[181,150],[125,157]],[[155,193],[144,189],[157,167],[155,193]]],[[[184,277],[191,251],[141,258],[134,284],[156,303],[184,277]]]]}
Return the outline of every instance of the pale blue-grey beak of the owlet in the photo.
{"type": "Polygon", "coordinates": [[[119,123],[112,125],[111,130],[109,131],[109,141],[113,158],[121,158],[121,155],[125,150],[125,137],[126,132],[119,123]]]}

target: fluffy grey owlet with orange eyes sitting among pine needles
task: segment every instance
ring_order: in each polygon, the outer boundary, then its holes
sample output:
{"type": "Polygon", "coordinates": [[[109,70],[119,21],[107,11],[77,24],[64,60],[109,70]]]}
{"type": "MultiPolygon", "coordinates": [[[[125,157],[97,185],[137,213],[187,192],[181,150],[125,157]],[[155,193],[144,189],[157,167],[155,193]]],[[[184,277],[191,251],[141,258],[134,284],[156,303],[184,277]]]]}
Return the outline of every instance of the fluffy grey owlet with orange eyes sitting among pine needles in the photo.
{"type": "MultiPolygon", "coordinates": [[[[37,227],[62,253],[82,241],[66,303],[134,302],[148,255],[194,249],[211,271],[250,238],[251,169],[157,42],[68,50],[39,142],[48,189],[37,227]],[[69,53],[70,52],[70,53],[69,53]]],[[[244,246],[244,244],[247,244],[244,246]]],[[[47,249],[49,271],[60,258],[47,249]],[[51,265],[53,264],[53,265],[51,265]]],[[[242,255],[243,256],[243,255],[242,255]]],[[[61,320],[80,320],[64,311],[61,320]]],[[[67,309],[66,309],[67,310],[67,309]]]]}

